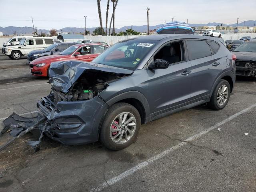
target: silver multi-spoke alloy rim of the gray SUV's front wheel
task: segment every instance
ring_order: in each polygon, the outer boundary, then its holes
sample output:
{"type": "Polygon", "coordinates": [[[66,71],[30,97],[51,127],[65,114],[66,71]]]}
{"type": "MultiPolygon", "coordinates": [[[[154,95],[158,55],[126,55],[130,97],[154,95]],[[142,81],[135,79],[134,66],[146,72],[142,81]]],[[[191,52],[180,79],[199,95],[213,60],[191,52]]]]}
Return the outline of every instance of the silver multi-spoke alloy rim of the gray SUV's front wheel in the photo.
{"type": "Polygon", "coordinates": [[[132,138],[135,130],[135,116],[130,112],[122,112],[114,118],[110,125],[110,138],[116,144],[124,144],[132,138]]]}

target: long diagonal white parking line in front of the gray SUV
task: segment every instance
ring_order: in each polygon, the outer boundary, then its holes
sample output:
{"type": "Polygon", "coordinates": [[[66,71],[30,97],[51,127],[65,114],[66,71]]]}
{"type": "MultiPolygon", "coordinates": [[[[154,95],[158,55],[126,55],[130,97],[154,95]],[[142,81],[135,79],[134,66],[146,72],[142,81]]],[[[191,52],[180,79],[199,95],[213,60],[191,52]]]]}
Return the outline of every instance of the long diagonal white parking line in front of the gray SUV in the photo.
{"type": "Polygon", "coordinates": [[[202,135],[204,135],[204,134],[206,134],[206,133],[208,133],[208,132],[210,132],[210,131],[212,131],[212,130],[218,128],[219,126],[221,126],[221,125],[223,125],[223,124],[225,124],[225,123],[231,121],[232,119],[236,118],[237,116],[239,116],[239,115],[241,115],[241,114],[244,114],[245,112],[251,110],[251,109],[254,108],[255,106],[256,106],[256,103],[253,104],[252,106],[250,106],[250,107],[248,107],[248,108],[246,108],[246,109],[244,109],[244,110],[242,110],[242,111],[240,111],[240,112],[238,112],[238,113],[236,113],[236,114],[234,114],[234,115],[232,115],[232,116],[226,118],[225,120],[223,120],[223,121],[221,121],[221,122],[215,124],[214,126],[211,126],[210,128],[208,128],[208,129],[206,129],[206,130],[204,130],[204,131],[201,131],[201,132],[199,132],[198,134],[195,134],[195,135],[193,135],[193,136],[187,138],[187,139],[184,140],[183,142],[180,142],[180,143],[178,143],[177,145],[168,148],[167,150],[163,151],[162,153],[157,154],[156,156],[153,156],[152,158],[150,158],[150,159],[148,159],[148,160],[146,160],[146,161],[144,161],[144,162],[141,162],[140,164],[136,165],[135,167],[133,167],[133,168],[131,168],[131,169],[129,169],[129,170],[126,170],[125,172],[121,173],[120,175],[118,175],[118,176],[116,176],[116,177],[114,177],[114,178],[111,178],[110,180],[107,180],[106,182],[100,184],[99,186],[97,186],[97,187],[95,187],[95,188],[92,188],[92,189],[90,190],[90,192],[101,191],[102,189],[104,189],[104,188],[106,188],[106,187],[108,187],[108,186],[110,186],[110,185],[113,185],[113,184],[117,183],[118,181],[120,181],[120,180],[126,178],[127,176],[130,176],[130,175],[134,174],[134,172],[136,172],[136,171],[138,171],[138,170],[141,170],[142,168],[144,168],[144,167],[146,167],[146,166],[152,164],[152,163],[155,162],[156,160],[158,160],[158,159],[160,159],[160,158],[163,158],[164,156],[168,155],[170,152],[172,152],[172,151],[174,151],[174,150],[176,150],[176,149],[178,149],[178,148],[181,148],[182,146],[186,145],[187,142],[190,142],[190,141],[192,141],[192,140],[194,140],[194,139],[196,139],[196,138],[198,138],[198,137],[200,137],[200,136],[202,136],[202,135]]]}

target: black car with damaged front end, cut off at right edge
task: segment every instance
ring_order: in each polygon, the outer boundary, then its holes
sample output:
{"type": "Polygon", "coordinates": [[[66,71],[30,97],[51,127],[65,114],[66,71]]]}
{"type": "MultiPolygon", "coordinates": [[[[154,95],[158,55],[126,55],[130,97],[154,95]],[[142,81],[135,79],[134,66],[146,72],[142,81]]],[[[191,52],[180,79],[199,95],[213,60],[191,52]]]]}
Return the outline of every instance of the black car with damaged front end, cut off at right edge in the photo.
{"type": "Polygon", "coordinates": [[[232,54],[236,55],[236,75],[256,77],[256,41],[245,42],[232,54]]]}

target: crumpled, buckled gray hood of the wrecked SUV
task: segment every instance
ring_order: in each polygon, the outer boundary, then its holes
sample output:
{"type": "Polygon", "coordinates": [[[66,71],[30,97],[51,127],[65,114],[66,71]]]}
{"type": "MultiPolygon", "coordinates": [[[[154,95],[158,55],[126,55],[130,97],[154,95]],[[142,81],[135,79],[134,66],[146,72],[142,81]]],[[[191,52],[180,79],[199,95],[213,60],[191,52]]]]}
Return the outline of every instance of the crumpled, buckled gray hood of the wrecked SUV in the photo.
{"type": "Polygon", "coordinates": [[[53,62],[50,66],[49,82],[52,86],[61,92],[68,92],[70,87],[85,72],[107,72],[111,74],[132,74],[133,70],[80,61],[62,61],[53,62]]]}

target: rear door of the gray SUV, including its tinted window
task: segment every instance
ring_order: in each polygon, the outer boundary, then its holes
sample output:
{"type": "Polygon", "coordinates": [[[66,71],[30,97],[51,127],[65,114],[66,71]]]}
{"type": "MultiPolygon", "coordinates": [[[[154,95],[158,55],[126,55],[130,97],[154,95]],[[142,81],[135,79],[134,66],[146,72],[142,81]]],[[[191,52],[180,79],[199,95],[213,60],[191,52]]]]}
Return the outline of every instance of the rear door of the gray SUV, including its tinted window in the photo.
{"type": "Polygon", "coordinates": [[[191,100],[210,97],[216,78],[222,72],[222,58],[218,54],[220,44],[215,41],[186,40],[191,62],[191,100]]]}

